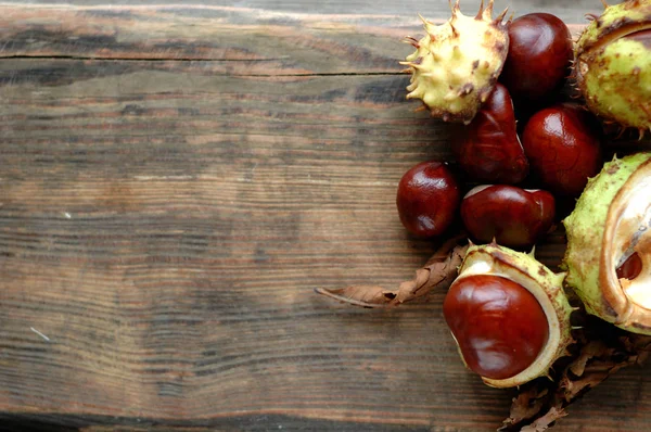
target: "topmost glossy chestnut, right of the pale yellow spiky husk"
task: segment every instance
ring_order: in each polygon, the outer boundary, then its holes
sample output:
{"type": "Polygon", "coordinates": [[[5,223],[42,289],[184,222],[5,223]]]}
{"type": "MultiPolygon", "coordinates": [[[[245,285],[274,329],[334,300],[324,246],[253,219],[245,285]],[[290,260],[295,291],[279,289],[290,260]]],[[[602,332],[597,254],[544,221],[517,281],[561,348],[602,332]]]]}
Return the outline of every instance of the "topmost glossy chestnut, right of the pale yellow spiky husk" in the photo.
{"type": "Polygon", "coordinates": [[[515,100],[538,101],[560,89],[573,58],[567,26],[549,13],[531,13],[509,24],[509,54],[500,75],[515,100]]]}

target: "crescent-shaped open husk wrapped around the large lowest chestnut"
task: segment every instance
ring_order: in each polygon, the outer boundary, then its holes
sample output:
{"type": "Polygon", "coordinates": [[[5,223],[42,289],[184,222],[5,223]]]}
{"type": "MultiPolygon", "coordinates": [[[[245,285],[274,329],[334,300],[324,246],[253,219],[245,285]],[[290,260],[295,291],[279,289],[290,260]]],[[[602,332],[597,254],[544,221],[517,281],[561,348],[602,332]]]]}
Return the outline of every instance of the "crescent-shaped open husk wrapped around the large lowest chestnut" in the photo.
{"type": "Polygon", "coordinates": [[[516,252],[496,243],[468,249],[457,279],[474,275],[502,276],[524,287],[536,297],[549,322],[546,347],[528,368],[508,379],[482,377],[482,380],[490,386],[512,387],[547,376],[553,363],[566,355],[567,345],[573,342],[570,316],[574,309],[563,290],[565,275],[551,271],[536,261],[533,252],[516,252]]]}

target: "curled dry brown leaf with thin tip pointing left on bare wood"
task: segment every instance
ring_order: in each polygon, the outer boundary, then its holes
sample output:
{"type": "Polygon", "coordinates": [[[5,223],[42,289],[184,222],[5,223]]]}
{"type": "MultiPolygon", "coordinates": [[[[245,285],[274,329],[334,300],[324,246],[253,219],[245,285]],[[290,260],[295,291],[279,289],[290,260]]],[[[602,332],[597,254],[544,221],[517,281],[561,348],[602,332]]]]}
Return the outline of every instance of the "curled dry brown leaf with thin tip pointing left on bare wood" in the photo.
{"type": "Polygon", "coordinates": [[[413,279],[400,283],[396,290],[378,285],[352,285],[336,290],[318,288],[318,294],[362,307],[397,306],[422,297],[434,289],[447,289],[457,277],[457,269],[465,256],[464,237],[444,243],[427,263],[416,270],[413,279]]]}

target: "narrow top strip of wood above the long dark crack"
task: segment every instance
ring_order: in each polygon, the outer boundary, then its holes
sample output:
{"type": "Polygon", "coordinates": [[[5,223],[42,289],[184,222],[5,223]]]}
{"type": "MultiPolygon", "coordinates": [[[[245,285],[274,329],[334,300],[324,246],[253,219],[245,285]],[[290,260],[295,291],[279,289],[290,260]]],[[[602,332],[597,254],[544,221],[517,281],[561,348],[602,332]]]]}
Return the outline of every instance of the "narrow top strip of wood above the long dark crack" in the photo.
{"type": "MultiPolygon", "coordinates": [[[[432,18],[446,16],[432,15],[432,18]]],[[[219,61],[228,75],[395,74],[422,35],[409,15],[316,15],[209,7],[0,4],[0,58],[219,61]]],[[[573,25],[573,31],[580,26],[573,25]]]]}

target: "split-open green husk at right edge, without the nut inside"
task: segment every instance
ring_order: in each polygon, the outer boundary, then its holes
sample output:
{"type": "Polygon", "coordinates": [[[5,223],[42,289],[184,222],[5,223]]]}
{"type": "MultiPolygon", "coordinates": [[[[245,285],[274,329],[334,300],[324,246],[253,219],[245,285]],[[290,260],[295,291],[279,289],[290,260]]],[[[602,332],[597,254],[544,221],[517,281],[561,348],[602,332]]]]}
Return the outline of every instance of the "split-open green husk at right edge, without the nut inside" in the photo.
{"type": "MultiPolygon", "coordinates": [[[[566,284],[580,297],[589,314],[625,330],[651,334],[651,310],[638,307],[628,298],[616,279],[618,258],[630,238],[617,238],[622,215],[636,205],[651,206],[651,194],[643,186],[633,203],[634,183],[648,182],[651,153],[638,153],[607,163],[601,173],[588,181],[572,214],[563,220],[567,249],[562,267],[566,284]],[[618,255],[618,256],[617,256],[618,255]]],[[[644,214],[642,214],[643,216],[644,214]]],[[[633,228],[636,228],[635,226],[633,228]]],[[[647,261],[647,258],[643,258],[647,261]]],[[[648,270],[646,270],[648,271],[648,270]]]]}

